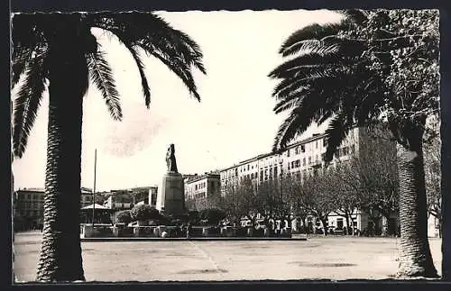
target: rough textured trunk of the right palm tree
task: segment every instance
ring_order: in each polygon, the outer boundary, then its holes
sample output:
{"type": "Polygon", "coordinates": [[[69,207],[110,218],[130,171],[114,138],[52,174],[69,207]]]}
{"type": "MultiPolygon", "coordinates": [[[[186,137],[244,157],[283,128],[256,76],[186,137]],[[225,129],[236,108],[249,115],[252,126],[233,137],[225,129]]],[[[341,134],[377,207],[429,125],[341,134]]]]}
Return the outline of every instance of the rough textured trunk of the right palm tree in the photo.
{"type": "Polygon", "coordinates": [[[400,177],[400,277],[437,277],[428,243],[428,215],[421,141],[398,145],[400,177]]]}

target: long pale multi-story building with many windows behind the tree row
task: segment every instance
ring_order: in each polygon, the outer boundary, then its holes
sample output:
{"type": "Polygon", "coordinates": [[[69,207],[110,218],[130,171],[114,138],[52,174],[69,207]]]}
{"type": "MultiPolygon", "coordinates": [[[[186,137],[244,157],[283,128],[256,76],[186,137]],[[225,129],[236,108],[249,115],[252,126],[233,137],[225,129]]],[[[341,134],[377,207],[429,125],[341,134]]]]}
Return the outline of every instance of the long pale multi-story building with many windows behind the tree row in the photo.
{"type": "MultiPolygon", "coordinates": [[[[334,167],[337,161],[346,161],[352,155],[364,154],[365,144],[371,137],[364,128],[354,127],[338,148],[334,159],[329,163],[334,167]]],[[[391,142],[391,141],[378,141],[391,142]]],[[[394,142],[390,143],[395,150],[394,142]]],[[[246,159],[232,167],[220,170],[221,193],[224,195],[229,186],[236,186],[244,178],[249,178],[258,187],[262,182],[281,177],[298,177],[302,180],[307,175],[315,175],[324,168],[324,156],[327,150],[327,134],[315,133],[307,139],[295,141],[280,152],[270,152],[246,159]]],[[[368,223],[366,214],[355,210],[354,226],[364,229],[368,223]]],[[[343,217],[338,214],[329,215],[329,225],[343,227],[343,217]]],[[[313,223],[316,225],[318,222],[313,223]]],[[[396,225],[397,222],[395,222],[396,225]]],[[[393,223],[391,223],[393,225],[393,223]]]]}

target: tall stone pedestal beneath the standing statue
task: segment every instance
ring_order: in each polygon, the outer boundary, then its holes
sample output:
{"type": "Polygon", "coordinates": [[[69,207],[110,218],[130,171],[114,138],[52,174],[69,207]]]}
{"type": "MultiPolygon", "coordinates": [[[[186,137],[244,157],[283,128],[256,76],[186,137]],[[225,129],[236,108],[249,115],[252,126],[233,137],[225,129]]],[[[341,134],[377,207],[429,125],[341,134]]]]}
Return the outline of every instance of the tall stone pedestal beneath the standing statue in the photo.
{"type": "Polygon", "coordinates": [[[185,184],[181,174],[168,172],[164,175],[156,208],[163,214],[185,214],[185,184]]]}

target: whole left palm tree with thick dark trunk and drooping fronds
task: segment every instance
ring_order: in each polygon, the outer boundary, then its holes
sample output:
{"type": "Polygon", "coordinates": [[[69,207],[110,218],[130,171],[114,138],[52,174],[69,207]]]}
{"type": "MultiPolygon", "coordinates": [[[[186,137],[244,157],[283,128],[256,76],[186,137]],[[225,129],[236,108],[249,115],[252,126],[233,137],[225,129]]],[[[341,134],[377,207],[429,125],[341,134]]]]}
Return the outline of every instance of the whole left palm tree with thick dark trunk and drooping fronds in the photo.
{"type": "Polygon", "coordinates": [[[202,53],[187,34],[152,13],[15,14],[12,20],[12,84],[23,82],[14,105],[14,156],[21,158],[44,90],[49,90],[44,228],[38,281],[85,280],[79,241],[82,102],[88,79],[121,120],[112,70],[91,28],[114,35],[133,56],[145,105],[151,91],[140,51],[160,59],[200,100],[192,76],[205,74],[202,53]],[[21,78],[23,76],[23,78],[21,78]]]}

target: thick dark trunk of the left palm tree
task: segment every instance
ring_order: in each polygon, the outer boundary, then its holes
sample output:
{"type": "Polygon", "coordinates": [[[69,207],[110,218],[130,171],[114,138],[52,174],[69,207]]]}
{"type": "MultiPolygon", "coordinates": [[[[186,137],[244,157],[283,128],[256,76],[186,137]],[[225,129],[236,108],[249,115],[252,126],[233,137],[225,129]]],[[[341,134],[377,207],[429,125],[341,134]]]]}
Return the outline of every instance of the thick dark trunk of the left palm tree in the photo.
{"type": "Polygon", "coordinates": [[[85,280],[79,209],[82,97],[87,89],[87,62],[77,38],[73,39],[77,31],[61,31],[50,48],[44,225],[36,277],[44,282],[85,280]]]}

